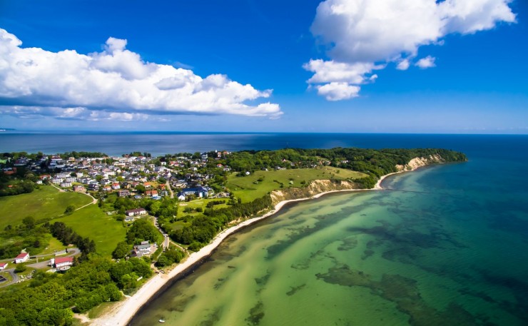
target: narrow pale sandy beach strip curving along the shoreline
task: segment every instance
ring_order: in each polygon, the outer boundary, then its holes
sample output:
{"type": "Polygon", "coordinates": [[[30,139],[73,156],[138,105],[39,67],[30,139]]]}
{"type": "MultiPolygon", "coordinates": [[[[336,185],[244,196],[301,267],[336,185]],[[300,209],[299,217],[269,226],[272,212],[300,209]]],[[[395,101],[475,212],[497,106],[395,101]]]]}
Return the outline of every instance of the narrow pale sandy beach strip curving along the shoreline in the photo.
{"type": "MultiPolygon", "coordinates": [[[[412,170],[415,170],[416,168],[413,168],[412,170]]],[[[340,193],[340,192],[352,192],[352,191],[370,191],[370,190],[382,190],[381,183],[385,178],[387,178],[390,175],[395,175],[398,173],[408,172],[409,170],[401,170],[395,173],[389,173],[387,175],[382,175],[380,180],[377,181],[374,188],[370,189],[345,189],[345,190],[331,190],[331,191],[325,191],[323,193],[318,193],[316,195],[313,195],[311,197],[307,198],[298,198],[298,199],[291,199],[291,200],[283,200],[279,203],[275,204],[273,210],[270,210],[268,213],[265,213],[264,215],[258,216],[256,218],[250,218],[249,220],[245,220],[242,223],[239,223],[237,225],[234,225],[231,228],[227,228],[223,230],[222,232],[218,233],[216,237],[211,241],[208,245],[205,245],[205,247],[201,248],[198,252],[192,253],[188,256],[188,258],[183,261],[183,263],[180,263],[176,265],[173,270],[168,272],[167,274],[157,274],[154,277],[152,277],[150,280],[148,280],[141,288],[134,293],[131,297],[126,297],[126,299],[121,300],[120,302],[116,302],[116,305],[111,307],[108,312],[106,312],[103,316],[98,317],[96,319],[90,320],[89,325],[94,326],[123,326],[128,325],[128,322],[130,322],[133,317],[141,310],[141,308],[148,303],[149,300],[151,300],[152,297],[154,297],[160,290],[163,290],[163,287],[173,280],[174,278],[182,275],[184,272],[186,272],[188,269],[193,268],[194,265],[200,262],[200,260],[203,260],[204,258],[207,258],[211,253],[213,253],[213,250],[215,250],[220,243],[225,240],[225,238],[228,238],[229,235],[237,232],[241,228],[245,228],[248,225],[251,225],[253,223],[257,223],[260,220],[263,220],[265,218],[270,217],[271,215],[275,215],[278,213],[284,205],[288,203],[303,201],[303,200],[310,200],[315,198],[320,198],[323,195],[327,195],[328,193],[340,193]]],[[[83,320],[84,322],[87,322],[87,320],[83,320]]]]}

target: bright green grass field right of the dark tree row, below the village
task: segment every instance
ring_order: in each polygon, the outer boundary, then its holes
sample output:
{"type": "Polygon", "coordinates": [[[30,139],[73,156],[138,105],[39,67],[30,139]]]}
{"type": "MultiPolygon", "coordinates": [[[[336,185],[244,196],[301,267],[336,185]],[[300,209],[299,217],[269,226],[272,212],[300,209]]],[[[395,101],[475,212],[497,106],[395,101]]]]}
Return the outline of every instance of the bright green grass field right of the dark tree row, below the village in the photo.
{"type": "Polygon", "coordinates": [[[125,240],[126,228],[113,216],[108,216],[97,205],[89,205],[73,214],[54,221],[64,222],[78,235],[96,242],[96,251],[110,257],[120,241],[125,240]]]}

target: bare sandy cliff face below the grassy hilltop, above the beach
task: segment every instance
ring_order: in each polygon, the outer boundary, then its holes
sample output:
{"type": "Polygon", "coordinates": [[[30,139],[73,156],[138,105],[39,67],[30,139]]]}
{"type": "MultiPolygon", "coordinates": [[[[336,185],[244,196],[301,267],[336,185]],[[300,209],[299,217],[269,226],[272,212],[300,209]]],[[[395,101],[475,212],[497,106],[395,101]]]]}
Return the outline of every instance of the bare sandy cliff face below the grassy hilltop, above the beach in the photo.
{"type": "Polygon", "coordinates": [[[285,188],[273,191],[270,196],[273,205],[283,200],[310,198],[320,193],[337,190],[359,189],[356,183],[346,180],[313,180],[305,188],[285,188]]]}

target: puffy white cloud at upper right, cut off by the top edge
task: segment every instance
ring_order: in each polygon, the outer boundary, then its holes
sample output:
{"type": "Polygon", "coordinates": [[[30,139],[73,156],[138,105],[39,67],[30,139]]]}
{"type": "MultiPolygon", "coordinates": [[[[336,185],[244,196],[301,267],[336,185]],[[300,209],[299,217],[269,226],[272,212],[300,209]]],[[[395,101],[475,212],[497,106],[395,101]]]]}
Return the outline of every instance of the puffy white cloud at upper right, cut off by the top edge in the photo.
{"type": "MultiPolygon", "coordinates": [[[[362,84],[372,81],[375,69],[385,68],[389,63],[396,63],[396,68],[402,71],[410,68],[420,46],[442,46],[442,38],[448,34],[473,34],[493,29],[501,22],[515,22],[515,14],[509,8],[511,1],[323,1],[311,30],[320,44],[327,46],[329,59],[305,63],[303,67],[314,73],[308,83],[318,90],[330,83],[345,88],[345,83],[359,91],[362,84]]],[[[415,66],[433,67],[435,58],[427,56],[415,66]]],[[[320,95],[328,98],[326,93],[320,95]]]]}

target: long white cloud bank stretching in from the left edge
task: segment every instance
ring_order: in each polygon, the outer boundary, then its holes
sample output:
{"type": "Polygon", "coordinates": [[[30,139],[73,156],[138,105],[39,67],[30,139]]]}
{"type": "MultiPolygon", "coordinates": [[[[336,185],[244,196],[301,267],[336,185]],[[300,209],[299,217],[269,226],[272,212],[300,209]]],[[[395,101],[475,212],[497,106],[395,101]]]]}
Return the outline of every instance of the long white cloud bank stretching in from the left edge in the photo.
{"type": "Polygon", "coordinates": [[[103,51],[92,54],[21,45],[0,29],[0,112],[125,121],[165,114],[282,114],[275,103],[248,104],[269,98],[271,90],[145,62],[123,39],[111,37],[103,51]]]}

